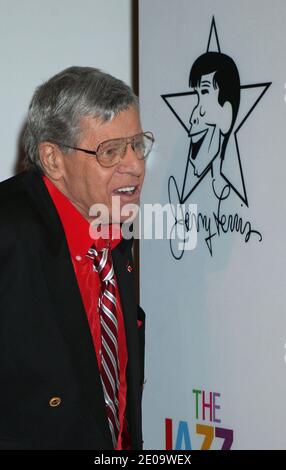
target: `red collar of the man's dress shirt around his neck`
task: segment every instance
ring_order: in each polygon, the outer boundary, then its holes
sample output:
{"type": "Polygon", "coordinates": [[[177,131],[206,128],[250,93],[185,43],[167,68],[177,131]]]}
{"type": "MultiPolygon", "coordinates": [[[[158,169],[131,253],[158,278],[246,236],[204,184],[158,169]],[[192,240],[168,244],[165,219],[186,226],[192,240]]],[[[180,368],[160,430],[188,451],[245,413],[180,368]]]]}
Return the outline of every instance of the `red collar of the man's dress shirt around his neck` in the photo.
{"type": "Polygon", "coordinates": [[[86,254],[93,245],[96,250],[105,247],[110,247],[113,250],[119,244],[122,240],[119,224],[110,224],[106,227],[107,235],[105,234],[104,238],[94,240],[90,236],[90,223],[83,217],[72,202],[47,176],[43,176],[43,181],[63,224],[70,253],[73,258],[77,261],[86,259],[86,254]]]}

